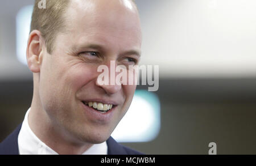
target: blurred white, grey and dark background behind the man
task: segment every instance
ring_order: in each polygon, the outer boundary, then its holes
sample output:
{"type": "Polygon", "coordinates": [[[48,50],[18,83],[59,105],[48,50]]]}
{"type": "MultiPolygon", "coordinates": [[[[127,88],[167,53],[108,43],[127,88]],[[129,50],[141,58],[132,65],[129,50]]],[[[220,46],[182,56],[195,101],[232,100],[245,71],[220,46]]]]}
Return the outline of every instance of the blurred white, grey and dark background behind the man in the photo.
{"type": "MultiPolygon", "coordinates": [[[[217,154],[256,154],[256,1],[136,2],[141,64],[159,65],[159,90],[152,94],[160,109],[153,109],[159,117],[147,123],[150,139],[121,143],[146,154],[208,154],[210,142],[217,154]]],[[[34,1],[0,3],[1,142],[31,104],[32,73],[19,57],[20,45],[26,45],[20,37],[28,34],[17,19],[34,1]]]]}

